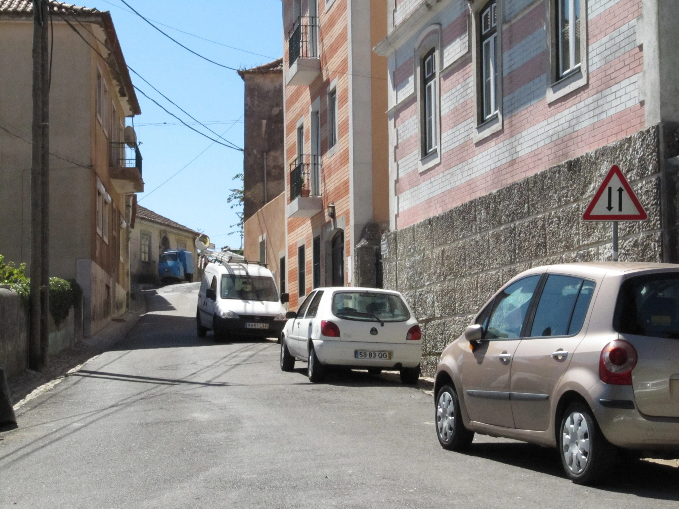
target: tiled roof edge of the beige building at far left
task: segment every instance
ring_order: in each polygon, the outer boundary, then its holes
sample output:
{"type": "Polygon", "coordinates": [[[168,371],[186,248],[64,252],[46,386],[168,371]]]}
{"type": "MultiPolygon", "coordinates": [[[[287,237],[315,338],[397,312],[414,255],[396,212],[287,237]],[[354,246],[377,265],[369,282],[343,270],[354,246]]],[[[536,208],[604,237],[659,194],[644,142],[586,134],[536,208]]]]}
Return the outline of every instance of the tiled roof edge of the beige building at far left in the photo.
{"type": "MultiPolygon", "coordinates": [[[[113,69],[111,77],[119,85],[118,94],[121,97],[126,97],[130,102],[130,110],[134,115],[141,114],[139,107],[139,100],[136,98],[134,86],[132,86],[132,79],[128,71],[125,57],[120,48],[120,41],[115,33],[115,26],[113,26],[113,19],[111,13],[108,11],[100,11],[90,7],[79,7],[70,3],[58,2],[50,0],[50,10],[57,14],[52,16],[53,22],[62,22],[60,16],[69,16],[71,24],[77,26],[75,18],[87,18],[88,22],[99,24],[106,34],[105,45],[111,48],[111,54],[108,56],[104,54],[109,67],[113,69]]],[[[33,16],[33,0],[0,0],[0,19],[25,19],[33,16]]],[[[65,17],[65,19],[68,19],[65,17]]]]}

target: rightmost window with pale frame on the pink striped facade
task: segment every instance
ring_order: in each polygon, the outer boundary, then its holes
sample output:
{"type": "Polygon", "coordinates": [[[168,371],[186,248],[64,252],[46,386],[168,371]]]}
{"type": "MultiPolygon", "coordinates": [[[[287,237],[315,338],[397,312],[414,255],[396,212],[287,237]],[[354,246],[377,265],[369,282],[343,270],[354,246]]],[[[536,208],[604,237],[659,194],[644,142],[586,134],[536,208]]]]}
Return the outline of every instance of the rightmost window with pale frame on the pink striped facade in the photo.
{"type": "MultiPolygon", "coordinates": [[[[549,60],[550,73],[549,83],[547,83],[547,104],[551,104],[574,90],[578,90],[587,85],[589,81],[588,60],[589,60],[589,46],[587,44],[587,2],[580,1],[580,62],[562,72],[561,58],[559,56],[561,45],[559,39],[561,38],[561,20],[559,19],[559,4],[563,0],[550,0],[547,2],[547,9],[549,11],[549,60]]],[[[566,0],[569,1],[570,0],[566,0]]],[[[574,34],[575,27],[572,27],[570,34],[574,34]]],[[[571,39],[571,40],[574,40],[571,39]]],[[[575,47],[571,45],[569,48],[569,56],[574,53],[575,47]]],[[[569,58],[570,60],[570,58],[569,58]]],[[[569,62],[570,64],[570,62],[569,62]]]]}

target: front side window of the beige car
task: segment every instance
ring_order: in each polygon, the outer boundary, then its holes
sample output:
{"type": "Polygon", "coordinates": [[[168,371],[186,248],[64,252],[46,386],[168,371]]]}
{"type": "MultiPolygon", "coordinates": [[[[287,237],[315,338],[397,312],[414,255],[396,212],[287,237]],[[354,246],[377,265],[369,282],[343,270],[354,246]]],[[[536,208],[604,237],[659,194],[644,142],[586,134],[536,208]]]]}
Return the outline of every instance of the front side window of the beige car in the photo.
{"type": "Polygon", "coordinates": [[[539,274],[528,276],[502,290],[495,298],[486,339],[509,339],[521,335],[530,299],[539,280],[539,274]]]}

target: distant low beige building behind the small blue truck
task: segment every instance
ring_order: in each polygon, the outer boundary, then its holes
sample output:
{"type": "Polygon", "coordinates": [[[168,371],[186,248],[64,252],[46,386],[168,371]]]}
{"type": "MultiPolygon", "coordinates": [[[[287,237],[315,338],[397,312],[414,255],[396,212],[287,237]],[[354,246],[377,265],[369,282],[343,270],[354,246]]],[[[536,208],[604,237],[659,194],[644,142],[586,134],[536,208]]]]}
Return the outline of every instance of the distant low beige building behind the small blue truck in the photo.
{"type": "MultiPolygon", "coordinates": [[[[157,283],[158,257],[167,250],[183,249],[193,253],[198,270],[196,238],[200,232],[180,225],[153,210],[135,206],[130,229],[130,277],[132,282],[157,283]]],[[[198,278],[194,277],[194,281],[198,278]]]]}

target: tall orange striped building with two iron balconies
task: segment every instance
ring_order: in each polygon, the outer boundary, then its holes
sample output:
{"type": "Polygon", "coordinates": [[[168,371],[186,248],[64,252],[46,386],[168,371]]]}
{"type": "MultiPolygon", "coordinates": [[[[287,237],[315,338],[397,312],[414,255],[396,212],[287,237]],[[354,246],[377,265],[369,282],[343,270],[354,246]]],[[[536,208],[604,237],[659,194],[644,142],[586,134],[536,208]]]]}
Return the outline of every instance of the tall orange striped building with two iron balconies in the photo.
{"type": "Polygon", "coordinates": [[[386,3],[282,0],[287,250],[272,269],[290,309],[314,286],[351,284],[365,225],[388,225],[387,67],[372,52],[386,3]]]}

